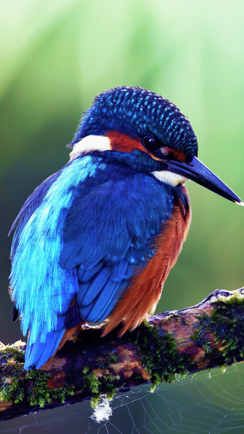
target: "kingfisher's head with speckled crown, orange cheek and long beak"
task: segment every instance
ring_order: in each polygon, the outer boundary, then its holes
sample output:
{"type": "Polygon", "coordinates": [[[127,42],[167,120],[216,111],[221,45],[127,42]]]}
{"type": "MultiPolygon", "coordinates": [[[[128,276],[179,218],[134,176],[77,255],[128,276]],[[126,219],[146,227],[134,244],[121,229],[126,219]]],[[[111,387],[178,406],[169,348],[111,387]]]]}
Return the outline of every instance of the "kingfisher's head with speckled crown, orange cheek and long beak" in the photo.
{"type": "Polygon", "coordinates": [[[240,205],[243,202],[197,158],[197,138],[170,101],[140,87],[116,87],[95,98],[84,113],[71,159],[94,150],[146,153],[160,164],[154,175],[171,185],[192,179],[240,205]],[[138,152],[139,151],[139,152],[138,152]]]}

